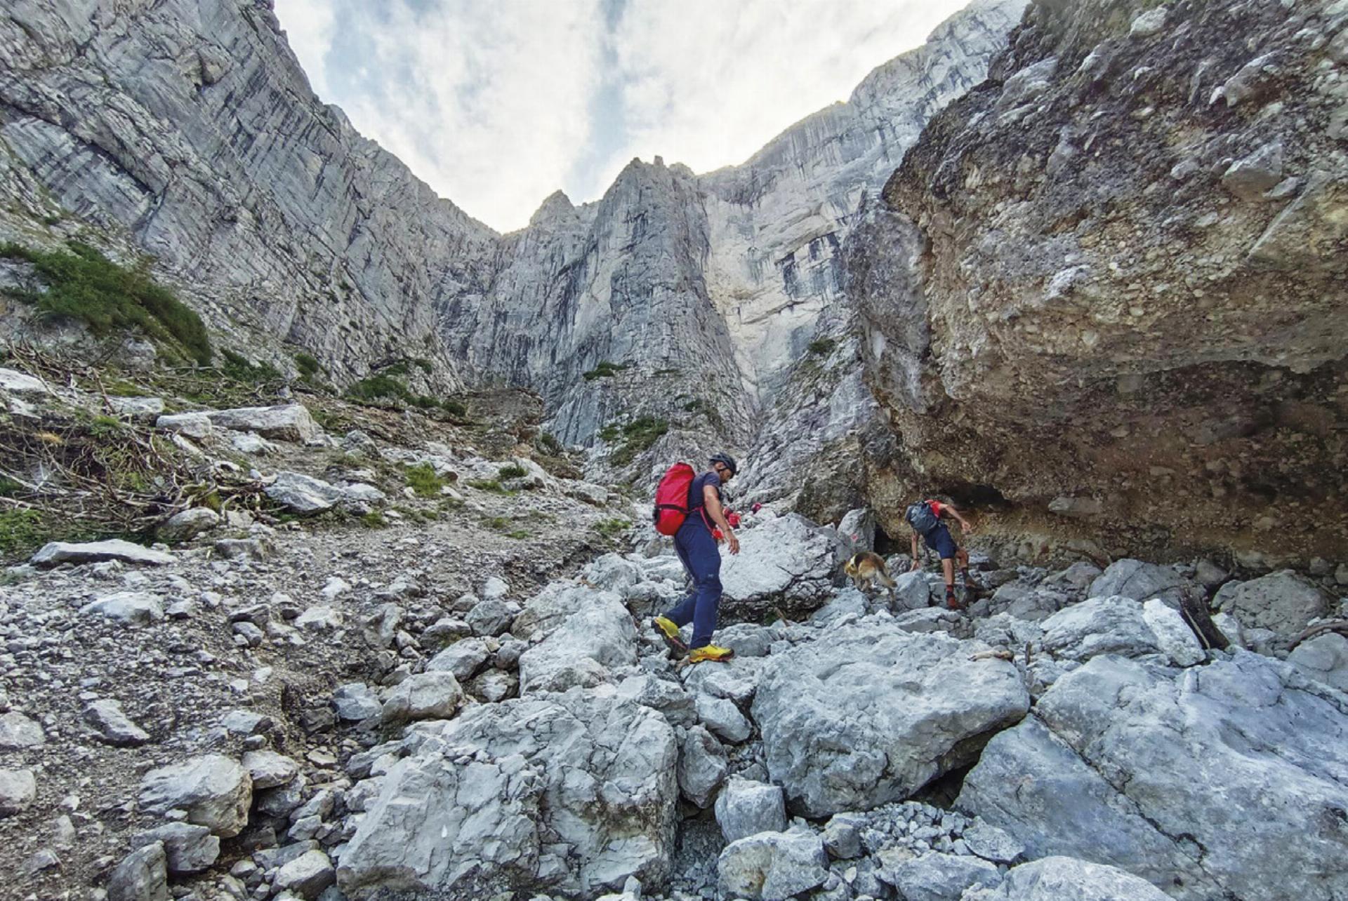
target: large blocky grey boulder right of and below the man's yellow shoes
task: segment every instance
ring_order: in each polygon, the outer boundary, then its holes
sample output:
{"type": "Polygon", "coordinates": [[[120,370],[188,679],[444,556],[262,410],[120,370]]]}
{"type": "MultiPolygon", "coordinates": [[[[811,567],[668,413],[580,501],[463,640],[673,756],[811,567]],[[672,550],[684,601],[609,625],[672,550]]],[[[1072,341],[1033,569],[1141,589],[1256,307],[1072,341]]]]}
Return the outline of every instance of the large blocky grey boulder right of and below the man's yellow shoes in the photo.
{"type": "Polygon", "coordinates": [[[754,698],[772,781],[794,809],[826,816],[968,764],[1030,707],[1012,664],[973,659],[987,649],[868,620],[774,655],[754,698]]]}

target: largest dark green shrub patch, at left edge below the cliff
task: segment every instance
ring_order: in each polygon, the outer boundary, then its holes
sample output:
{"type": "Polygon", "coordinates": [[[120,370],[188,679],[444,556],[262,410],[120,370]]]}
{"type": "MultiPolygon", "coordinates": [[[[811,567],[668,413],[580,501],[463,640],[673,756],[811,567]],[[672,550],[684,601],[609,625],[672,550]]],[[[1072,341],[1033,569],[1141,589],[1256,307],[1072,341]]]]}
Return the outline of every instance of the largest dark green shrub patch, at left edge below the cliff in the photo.
{"type": "Polygon", "coordinates": [[[210,338],[193,310],[148,275],[125,269],[88,244],[70,251],[32,251],[0,244],[0,256],[32,264],[47,291],[16,292],[44,312],[81,319],[94,334],[137,326],[152,338],[179,343],[201,365],[210,364],[210,338]]]}

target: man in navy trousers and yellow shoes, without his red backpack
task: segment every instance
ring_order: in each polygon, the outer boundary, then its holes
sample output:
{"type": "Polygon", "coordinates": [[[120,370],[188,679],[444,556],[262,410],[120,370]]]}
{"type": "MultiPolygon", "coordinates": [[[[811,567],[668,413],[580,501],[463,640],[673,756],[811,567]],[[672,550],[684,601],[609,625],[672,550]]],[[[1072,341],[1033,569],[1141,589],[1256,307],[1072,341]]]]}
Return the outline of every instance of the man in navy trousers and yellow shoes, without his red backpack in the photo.
{"type": "Polygon", "coordinates": [[[682,603],[655,617],[655,628],[675,652],[685,650],[679,640],[681,626],[693,624],[693,642],[687,645],[689,663],[728,660],[735,652],[712,644],[716,611],[721,603],[721,552],[716,547],[713,528],[725,536],[731,554],[740,552],[740,540],[725,519],[721,508],[721,485],[735,478],[735,458],[717,454],[712,469],[693,479],[687,497],[687,519],[674,533],[674,551],[693,580],[693,593],[682,603]]]}

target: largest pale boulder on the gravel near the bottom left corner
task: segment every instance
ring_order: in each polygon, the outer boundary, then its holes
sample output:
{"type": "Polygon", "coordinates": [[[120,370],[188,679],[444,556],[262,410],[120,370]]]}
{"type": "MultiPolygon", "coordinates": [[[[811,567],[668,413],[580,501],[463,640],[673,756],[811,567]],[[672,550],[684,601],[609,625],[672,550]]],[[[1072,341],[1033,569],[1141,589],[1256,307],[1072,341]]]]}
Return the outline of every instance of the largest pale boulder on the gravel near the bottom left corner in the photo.
{"type": "Polygon", "coordinates": [[[248,823],[252,778],[239,761],[222,754],[193,757],[160,766],[140,781],[140,807],[151,813],[187,812],[187,822],[233,838],[248,823]]]}

